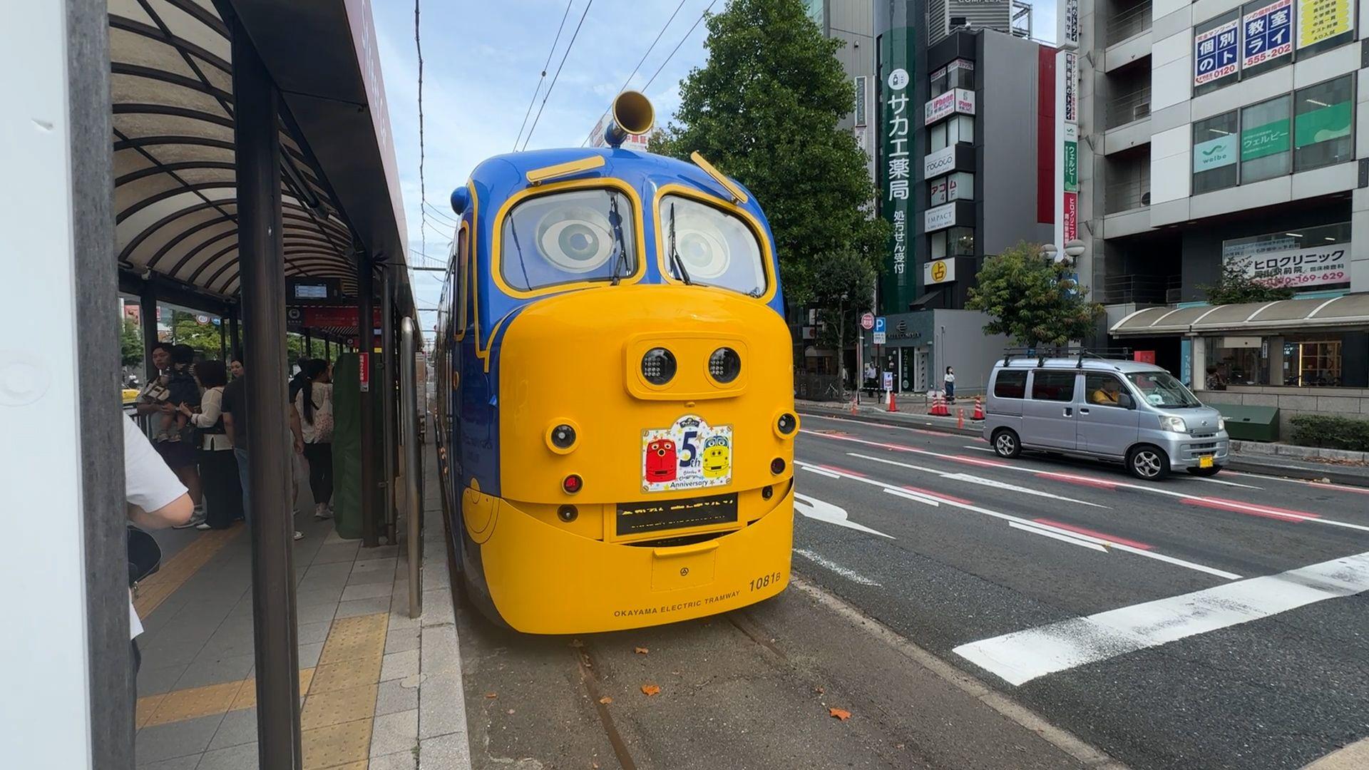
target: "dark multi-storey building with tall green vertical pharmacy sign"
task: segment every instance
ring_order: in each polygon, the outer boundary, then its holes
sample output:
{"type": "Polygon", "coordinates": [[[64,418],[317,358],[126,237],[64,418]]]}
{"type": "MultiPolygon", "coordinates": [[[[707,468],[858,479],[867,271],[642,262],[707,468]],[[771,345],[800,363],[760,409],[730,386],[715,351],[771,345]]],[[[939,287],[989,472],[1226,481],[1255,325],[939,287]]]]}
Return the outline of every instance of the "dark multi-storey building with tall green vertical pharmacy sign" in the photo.
{"type": "Polygon", "coordinates": [[[871,355],[897,390],[938,389],[946,366],[973,390],[1008,345],[965,310],[980,264],[1053,237],[1054,51],[1013,34],[1008,3],[879,7],[876,170],[893,238],[879,296],[887,340],[871,355]],[[1002,29],[934,23],[961,5],[998,7],[1002,29]]]}

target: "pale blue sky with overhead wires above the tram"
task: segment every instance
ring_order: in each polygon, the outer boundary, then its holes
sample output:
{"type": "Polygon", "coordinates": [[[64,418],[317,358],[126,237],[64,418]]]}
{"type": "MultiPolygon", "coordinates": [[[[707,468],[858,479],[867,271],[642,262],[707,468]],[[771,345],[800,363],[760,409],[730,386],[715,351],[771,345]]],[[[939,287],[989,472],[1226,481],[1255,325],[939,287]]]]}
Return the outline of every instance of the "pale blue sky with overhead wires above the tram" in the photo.
{"type": "MultiPolygon", "coordinates": [[[[413,3],[372,0],[371,8],[408,219],[409,262],[437,267],[445,264],[452,240],[452,190],[465,184],[482,160],[513,149],[524,115],[527,126],[533,126],[541,111],[528,149],[579,147],[626,82],[628,88],[645,88],[657,122],[667,122],[679,107],[680,79],[706,59],[708,30],[701,15],[711,4],[720,11],[727,0],[570,0],[568,14],[567,0],[419,3],[422,188],[428,207],[420,203],[413,3]],[[663,29],[660,41],[650,48],[663,29]],[[641,70],[632,74],[643,55],[641,70]]],[[[1054,0],[1035,3],[1034,25],[1036,37],[1054,37],[1054,0]]],[[[523,134],[527,138],[527,129],[523,134]]],[[[413,273],[412,282],[418,307],[437,307],[441,273],[413,273]]],[[[420,322],[431,329],[433,314],[422,312],[420,322]]]]}

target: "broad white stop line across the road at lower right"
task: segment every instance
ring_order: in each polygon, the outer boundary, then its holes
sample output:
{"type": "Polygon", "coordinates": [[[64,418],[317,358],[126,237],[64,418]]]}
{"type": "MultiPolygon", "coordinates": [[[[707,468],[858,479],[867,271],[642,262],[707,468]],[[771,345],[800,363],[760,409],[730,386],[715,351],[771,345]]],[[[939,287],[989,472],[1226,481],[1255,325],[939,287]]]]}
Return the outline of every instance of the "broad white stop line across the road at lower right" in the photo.
{"type": "Polygon", "coordinates": [[[1242,580],[962,644],[953,652],[1012,685],[1314,601],[1369,591],[1369,554],[1242,580]]]}

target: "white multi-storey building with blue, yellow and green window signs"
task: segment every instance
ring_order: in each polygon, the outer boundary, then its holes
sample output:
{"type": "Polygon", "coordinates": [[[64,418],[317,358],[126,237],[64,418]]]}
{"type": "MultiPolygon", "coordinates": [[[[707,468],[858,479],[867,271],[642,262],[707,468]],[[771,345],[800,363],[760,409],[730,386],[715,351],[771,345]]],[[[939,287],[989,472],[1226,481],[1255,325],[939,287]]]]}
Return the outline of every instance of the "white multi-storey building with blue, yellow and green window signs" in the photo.
{"type": "Polygon", "coordinates": [[[1079,18],[1079,273],[1109,343],[1205,400],[1369,418],[1369,3],[1079,18]],[[1294,299],[1210,306],[1224,270],[1294,299]]]}

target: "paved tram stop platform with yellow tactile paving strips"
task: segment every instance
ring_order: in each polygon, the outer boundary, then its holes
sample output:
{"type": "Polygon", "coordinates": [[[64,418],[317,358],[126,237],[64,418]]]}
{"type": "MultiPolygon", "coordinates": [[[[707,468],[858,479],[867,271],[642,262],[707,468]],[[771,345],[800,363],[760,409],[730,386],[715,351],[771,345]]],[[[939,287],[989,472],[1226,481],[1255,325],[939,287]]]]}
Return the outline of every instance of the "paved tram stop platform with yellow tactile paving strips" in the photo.
{"type": "MultiPolygon", "coordinates": [[[[331,521],[296,517],[301,749],[305,770],[468,767],[439,478],[427,452],[423,614],[408,615],[408,555],[361,548],[331,521]]],[[[312,511],[307,485],[301,511],[312,511]]],[[[257,767],[252,554],[240,523],[157,533],[162,569],[140,585],[137,767],[257,767]]],[[[400,538],[402,543],[402,538],[400,538]]]]}

